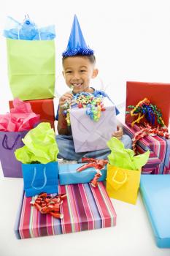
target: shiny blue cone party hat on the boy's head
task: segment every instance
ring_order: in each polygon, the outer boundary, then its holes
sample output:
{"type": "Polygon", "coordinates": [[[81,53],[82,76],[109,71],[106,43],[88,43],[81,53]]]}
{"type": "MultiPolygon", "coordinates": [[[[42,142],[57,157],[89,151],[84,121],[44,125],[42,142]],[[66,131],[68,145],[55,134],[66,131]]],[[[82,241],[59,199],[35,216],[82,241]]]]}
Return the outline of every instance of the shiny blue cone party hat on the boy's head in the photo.
{"type": "Polygon", "coordinates": [[[88,46],[85,43],[85,39],[82,35],[82,30],[80,28],[80,24],[76,15],[74,15],[72,31],[69,36],[69,42],[68,42],[67,48],[62,55],[63,57],[76,56],[76,55],[82,55],[82,56],[93,55],[93,50],[88,48],[88,46]]]}

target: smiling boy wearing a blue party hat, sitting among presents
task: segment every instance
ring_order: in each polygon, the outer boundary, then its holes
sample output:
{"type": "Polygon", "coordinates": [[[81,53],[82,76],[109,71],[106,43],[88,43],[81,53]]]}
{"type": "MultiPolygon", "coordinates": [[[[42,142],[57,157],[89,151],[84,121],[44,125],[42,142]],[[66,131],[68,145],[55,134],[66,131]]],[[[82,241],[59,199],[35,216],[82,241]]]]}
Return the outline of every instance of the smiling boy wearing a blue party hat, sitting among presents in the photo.
{"type": "MultiPolygon", "coordinates": [[[[63,77],[66,80],[66,85],[69,86],[69,88],[73,88],[73,90],[72,92],[66,92],[59,99],[58,113],[56,116],[56,119],[58,120],[58,135],[56,136],[59,148],[58,158],[81,162],[82,157],[106,159],[107,155],[110,153],[109,148],[98,151],[75,153],[72,129],[67,126],[66,119],[63,116],[63,104],[66,100],[71,100],[73,94],[84,91],[94,94],[94,96],[100,94],[104,97],[108,97],[104,91],[97,91],[90,87],[90,79],[96,78],[98,75],[98,69],[95,68],[95,62],[96,59],[93,55],[93,50],[90,50],[85,44],[80,25],[75,16],[67,50],[63,53],[63,77]],[[72,34],[74,34],[75,37],[75,31],[78,31],[78,34],[76,35],[78,42],[74,42],[72,39],[72,34]]],[[[119,111],[116,109],[116,114],[118,113],[119,111]]],[[[113,132],[112,136],[122,140],[126,148],[131,148],[131,138],[128,137],[128,135],[123,135],[123,129],[121,127],[117,127],[117,131],[113,132]]]]}

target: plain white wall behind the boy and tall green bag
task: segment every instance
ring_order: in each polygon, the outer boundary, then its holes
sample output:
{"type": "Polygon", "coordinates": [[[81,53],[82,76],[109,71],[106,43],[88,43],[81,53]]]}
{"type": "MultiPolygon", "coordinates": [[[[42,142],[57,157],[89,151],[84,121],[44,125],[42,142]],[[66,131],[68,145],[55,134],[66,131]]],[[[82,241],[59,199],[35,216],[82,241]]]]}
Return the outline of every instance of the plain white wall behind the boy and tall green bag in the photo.
{"type": "Polygon", "coordinates": [[[58,96],[67,89],[61,75],[61,53],[66,49],[75,13],[86,42],[95,50],[99,74],[94,86],[105,89],[116,104],[125,101],[126,80],[169,83],[169,0],[7,0],[0,16],[0,113],[7,110],[7,101],[12,99],[2,36],[7,15],[22,22],[28,14],[39,26],[55,24],[58,96]]]}

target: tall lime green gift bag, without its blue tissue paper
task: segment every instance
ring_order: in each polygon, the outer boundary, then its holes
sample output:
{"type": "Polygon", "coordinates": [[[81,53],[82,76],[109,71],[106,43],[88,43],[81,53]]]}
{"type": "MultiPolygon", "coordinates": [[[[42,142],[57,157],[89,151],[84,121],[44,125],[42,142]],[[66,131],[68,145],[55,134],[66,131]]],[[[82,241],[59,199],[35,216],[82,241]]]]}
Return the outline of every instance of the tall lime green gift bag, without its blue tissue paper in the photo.
{"type": "Polygon", "coordinates": [[[54,97],[54,40],[7,39],[7,62],[9,85],[14,98],[54,97]]]}

